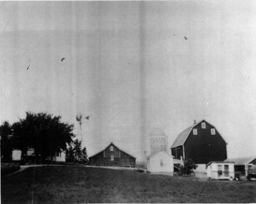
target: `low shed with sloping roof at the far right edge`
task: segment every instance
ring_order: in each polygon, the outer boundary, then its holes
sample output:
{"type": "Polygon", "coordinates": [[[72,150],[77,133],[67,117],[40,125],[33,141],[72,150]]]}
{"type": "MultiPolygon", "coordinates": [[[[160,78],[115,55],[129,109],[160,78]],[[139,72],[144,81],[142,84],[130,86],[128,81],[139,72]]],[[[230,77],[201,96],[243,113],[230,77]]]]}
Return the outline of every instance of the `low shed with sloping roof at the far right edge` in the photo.
{"type": "Polygon", "coordinates": [[[226,159],[224,162],[234,162],[234,171],[242,172],[247,176],[248,170],[256,165],[256,157],[226,159]]]}

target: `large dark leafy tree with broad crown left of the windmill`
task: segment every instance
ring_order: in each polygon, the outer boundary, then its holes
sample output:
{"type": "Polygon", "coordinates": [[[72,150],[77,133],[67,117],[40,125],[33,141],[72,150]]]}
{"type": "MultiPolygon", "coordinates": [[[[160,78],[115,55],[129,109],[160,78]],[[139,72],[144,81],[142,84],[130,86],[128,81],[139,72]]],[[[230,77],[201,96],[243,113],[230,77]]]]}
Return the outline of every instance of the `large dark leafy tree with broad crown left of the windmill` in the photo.
{"type": "Polygon", "coordinates": [[[26,151],[34,148],[36,159],[50,155],[51,160],[56,151],[66,150],[72,143],[74,125],[60,122],[60,116],[47,113],[26,112],[25,119],[19,119],[13,127],[14,148],[26,151]]]}

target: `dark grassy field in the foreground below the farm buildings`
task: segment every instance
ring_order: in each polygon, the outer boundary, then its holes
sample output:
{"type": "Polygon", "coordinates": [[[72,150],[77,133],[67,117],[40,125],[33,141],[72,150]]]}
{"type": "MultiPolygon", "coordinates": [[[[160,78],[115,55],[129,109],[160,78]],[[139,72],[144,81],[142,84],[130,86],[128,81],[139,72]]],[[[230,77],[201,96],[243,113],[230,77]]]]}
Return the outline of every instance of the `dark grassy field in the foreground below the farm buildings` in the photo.
{"type": "Polygon", "coordinates": [[[256,182],[78,166],[28,168],[2,178],[2,203],[31,203],[32,195],[33,203],[245,203],[256,202],[256,182]]]}

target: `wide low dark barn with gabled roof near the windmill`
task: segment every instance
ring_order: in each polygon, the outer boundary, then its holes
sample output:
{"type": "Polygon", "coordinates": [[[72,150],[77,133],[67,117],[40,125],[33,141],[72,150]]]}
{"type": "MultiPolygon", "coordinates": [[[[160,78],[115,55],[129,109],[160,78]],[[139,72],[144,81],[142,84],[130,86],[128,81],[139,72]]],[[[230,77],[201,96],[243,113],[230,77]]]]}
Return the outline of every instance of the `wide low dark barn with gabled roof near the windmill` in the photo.
{"type": "Polygon", "coordinates": [[[118,148],[112,142],[103,150],[89,158],[91,166],[135,167],[136,158],[118,148]]]}

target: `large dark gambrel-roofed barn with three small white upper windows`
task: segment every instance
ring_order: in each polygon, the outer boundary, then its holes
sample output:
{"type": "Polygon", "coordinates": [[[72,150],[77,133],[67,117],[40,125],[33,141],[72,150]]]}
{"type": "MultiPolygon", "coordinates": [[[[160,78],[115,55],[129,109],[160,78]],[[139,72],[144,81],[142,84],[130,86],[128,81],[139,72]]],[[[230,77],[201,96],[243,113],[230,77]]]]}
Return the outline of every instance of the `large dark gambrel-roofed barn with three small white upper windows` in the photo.
{"type": "Polygon", "coordinates": [[[210,161],[227,159],[226,145],[216,127],[201,120],[181,132],[171,149],[175,159],[192,159],[198,165],[195,171],[206,172],[210,161]]]}

